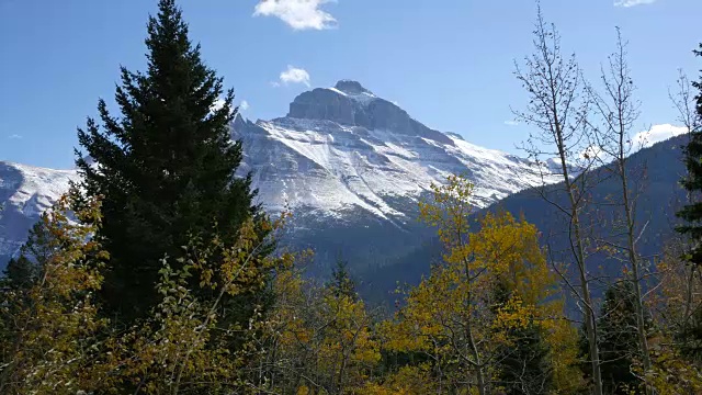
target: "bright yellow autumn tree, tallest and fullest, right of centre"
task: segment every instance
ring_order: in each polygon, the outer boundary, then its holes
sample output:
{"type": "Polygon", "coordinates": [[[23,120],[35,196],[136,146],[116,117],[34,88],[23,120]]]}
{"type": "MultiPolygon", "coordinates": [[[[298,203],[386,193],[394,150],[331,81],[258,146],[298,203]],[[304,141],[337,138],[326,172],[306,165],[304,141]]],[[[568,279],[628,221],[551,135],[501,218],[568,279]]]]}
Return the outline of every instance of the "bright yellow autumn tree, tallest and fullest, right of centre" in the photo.
{"type": "Polygon", "coordinates": [[[438,227],[443,262],[382,325],[385,347],[430,356],[442,383],[438,391],[487,394],[498,390],[491,383],[499,373],[498,352],[512,341],[510,330],[535,325],[552,347],[555,381],[570,385],[575,331],[562,319],[562,298],[536,228],[508,213],[488,213],[475,223],[473,185],[461,177],[432,190],[420,212],[438,227]],[[506,301],[496,295],[498,289],[507,291],[506,301]]]}

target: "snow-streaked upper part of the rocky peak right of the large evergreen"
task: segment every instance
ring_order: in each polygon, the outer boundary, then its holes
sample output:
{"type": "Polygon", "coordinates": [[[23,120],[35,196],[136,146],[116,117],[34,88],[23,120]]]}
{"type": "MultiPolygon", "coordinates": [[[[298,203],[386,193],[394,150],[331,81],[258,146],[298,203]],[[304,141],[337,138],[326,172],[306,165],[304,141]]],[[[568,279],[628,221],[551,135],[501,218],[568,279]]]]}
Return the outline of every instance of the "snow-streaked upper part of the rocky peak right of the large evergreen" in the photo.
{"type": "Polygon", "coordinates": [[[475,183],[478,207],[543,182],[529,160],[430,129],[354,81],[302,93],[286,117],[237,119],[234,131],[271,211],[304,207],[343,219],[362,208],[396,221],[407,216],[396,198],[416,202],[452,173],[475,183]]]}

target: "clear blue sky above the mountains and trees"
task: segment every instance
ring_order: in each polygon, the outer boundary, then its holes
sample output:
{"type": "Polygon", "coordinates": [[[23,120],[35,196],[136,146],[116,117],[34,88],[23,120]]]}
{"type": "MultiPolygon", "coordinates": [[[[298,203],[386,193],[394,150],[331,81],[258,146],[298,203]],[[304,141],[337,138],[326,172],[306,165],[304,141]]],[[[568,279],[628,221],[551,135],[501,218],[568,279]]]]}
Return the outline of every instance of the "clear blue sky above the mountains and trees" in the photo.
{"type": "MultiPolygon", "coordinates": [[[[507,121],[510,105],[525,100],[512,71],[513,59],[531,50],[530,0],[180,4],[192,40],[237,101],[248,103],[249,119],[284,115],[307,83],[355,79],[428,126],[474,144],[519,154],[514,144],[526,137],[525,126],[507,121]]],[[[675,123],[668,89],[677,69],[695,78],[702,68],[691,53],[702,40],[702,1],[542,0],[542,7],[586,76],[597,77],[620,26],[643,103],[641,131],[675,123]]],[[[72,167],[76,127],[95,115],[98,98],[110,102],[118,66],[144,68],[146,21],[155,10],[156,0],[0,0],[0,160],[72,167]]]]}

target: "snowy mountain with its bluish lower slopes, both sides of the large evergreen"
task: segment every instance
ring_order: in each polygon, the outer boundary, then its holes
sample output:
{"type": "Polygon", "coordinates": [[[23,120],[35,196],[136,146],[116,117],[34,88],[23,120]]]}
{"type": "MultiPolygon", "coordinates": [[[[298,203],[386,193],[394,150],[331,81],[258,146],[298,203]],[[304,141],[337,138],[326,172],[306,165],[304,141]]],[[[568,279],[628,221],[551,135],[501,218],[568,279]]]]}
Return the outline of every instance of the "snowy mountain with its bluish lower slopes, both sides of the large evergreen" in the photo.
{"type": "MultiPolygon", "coordinates": [[[[342,258],[358,269],[382,267],[416,249],[430,234],[417,221],[417,203],[449,174],[475,183],[478,207],[542,183],[535,163],[427,127],[356,81],[304,92],[284,117],[238,116],[231,129],[244,143],[241,174],[252,172],[260,202],[271,213],[291,211],[290,244],[314,247],[325,264],[342,258]]],[[[77,176],[13,163],[0,169],[7,258],[77,176]]]]}

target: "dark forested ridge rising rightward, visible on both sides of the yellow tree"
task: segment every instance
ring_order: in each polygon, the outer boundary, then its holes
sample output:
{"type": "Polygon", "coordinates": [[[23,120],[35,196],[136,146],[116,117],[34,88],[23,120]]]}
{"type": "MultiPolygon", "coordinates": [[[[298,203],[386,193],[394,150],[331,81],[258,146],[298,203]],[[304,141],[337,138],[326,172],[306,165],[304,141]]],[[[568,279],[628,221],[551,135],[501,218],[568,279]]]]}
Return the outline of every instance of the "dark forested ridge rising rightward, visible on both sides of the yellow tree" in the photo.
{"type": "MultiPolygon", "coordinates": [[[[631,185],[633,190],[638,191],[634,212],[637,222],[636,234],[639,237],[637,249],[650,266],[655,266],[665,242],[676,237],[675,213],[686,200],[686,192],[679,185],[686,173],[682,161],[682,146],[686,143],[687,136],[673,137],[644,148],[627,159],[631,185]],[[641,181],[634,182],[638,179],[641,181]]],[[[584,214],[588,235],[607,235],[610,241],[625,245],[623,235],[619,238],[615,236],[616,233],[621,233],[621,228],[615,225],[620,223],[621,208],[608,204],[621,194],[619,181],[604,168],[592,170],[590,177],[599,180],[590,191],[590,200],[604,204],[595,206],[584,214]]],[[[552,202],[565,205],[567,200],[563,192],[563,183],[550,184],[545,191],[552,202]]],[[[548,247],[552,258],[563,262],[571,260],[564,217],[554,205],[541,198],[539,189],[530,188],[513,193],[484,208],[482,213],[502,210],[517,217],[523,215],[528,222],[534,224],[541,230],[541,241],[548,247]]],[[[435,238],[428,238],[422,246],[417,246],[394,262],[363,273],[362,278],[366,281],[362,291],[375,301],[386,301],[388,292],[395,289],[397,282],[418,283],[421,276],[429,272],[429,264],[441,259],[441,253],[442,246],[435,238]]],[[[608,256],[595,255],[588,261],[588,270],[603,279],[612,279],[621,275],[622,264],[608,256]]],[[[605,285],[607,281],[593,284],[593,294],[601,295],[605,285]]]]}

